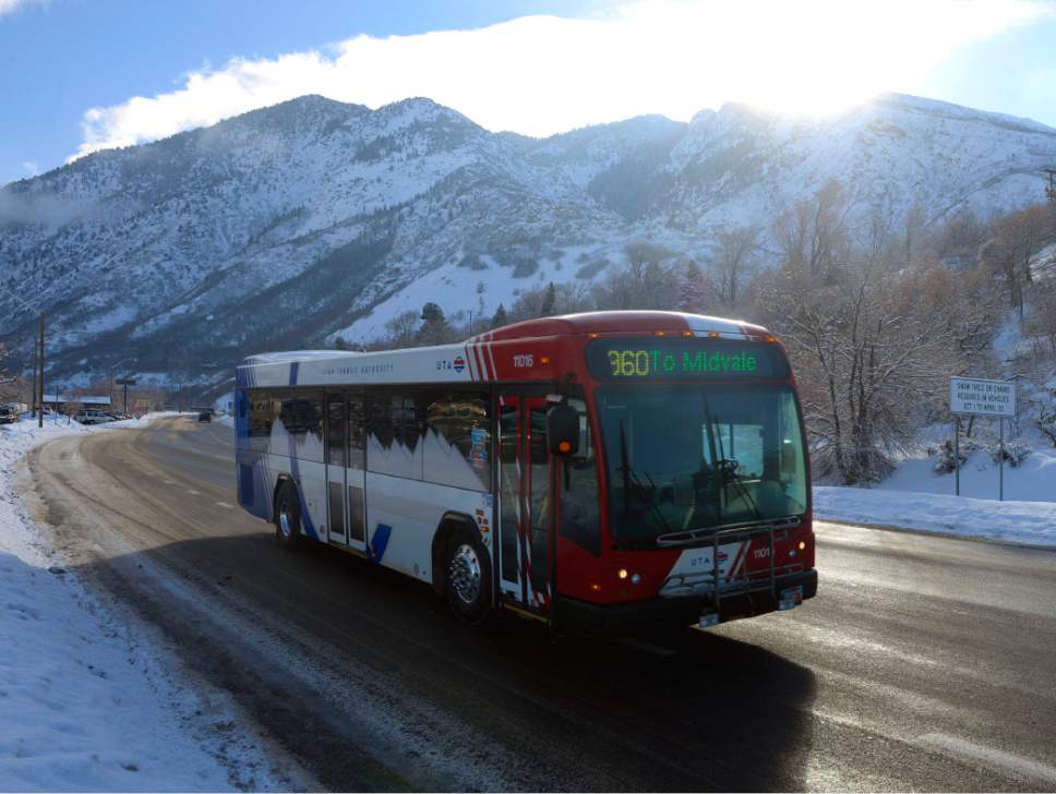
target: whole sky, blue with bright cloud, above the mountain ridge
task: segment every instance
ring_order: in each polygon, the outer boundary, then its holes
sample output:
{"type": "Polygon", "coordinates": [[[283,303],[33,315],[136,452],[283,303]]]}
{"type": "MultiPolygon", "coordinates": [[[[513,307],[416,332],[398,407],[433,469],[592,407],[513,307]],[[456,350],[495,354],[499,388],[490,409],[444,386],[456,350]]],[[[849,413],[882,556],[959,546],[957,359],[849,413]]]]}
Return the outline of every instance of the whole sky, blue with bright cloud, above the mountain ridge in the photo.
{"type": "Polygon", "coordinates": [[[895,91],[1056,127],[1056,0],[0,0],[0,184],[303,94],[544,136],[895,91]]]}

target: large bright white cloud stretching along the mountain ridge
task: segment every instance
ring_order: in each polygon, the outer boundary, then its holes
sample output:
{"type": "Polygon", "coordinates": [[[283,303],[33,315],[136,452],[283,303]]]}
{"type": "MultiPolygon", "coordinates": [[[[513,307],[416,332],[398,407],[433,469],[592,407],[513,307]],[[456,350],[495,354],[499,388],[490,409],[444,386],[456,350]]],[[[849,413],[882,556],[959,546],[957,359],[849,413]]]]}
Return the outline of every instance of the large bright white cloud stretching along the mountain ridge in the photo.
{"type": "Polygon", "coordinates": [[[428,96],[529,135],[649,112],[684,120],[729,100],[827,112],[880,91],[920,93],[958,48],[1049,13],[1039,0],[667,0],[586,20],[357,36],[328,52],[235,59],[171,93],[92,108],[74,157],[303,94],[370,107],[428,96]]]}

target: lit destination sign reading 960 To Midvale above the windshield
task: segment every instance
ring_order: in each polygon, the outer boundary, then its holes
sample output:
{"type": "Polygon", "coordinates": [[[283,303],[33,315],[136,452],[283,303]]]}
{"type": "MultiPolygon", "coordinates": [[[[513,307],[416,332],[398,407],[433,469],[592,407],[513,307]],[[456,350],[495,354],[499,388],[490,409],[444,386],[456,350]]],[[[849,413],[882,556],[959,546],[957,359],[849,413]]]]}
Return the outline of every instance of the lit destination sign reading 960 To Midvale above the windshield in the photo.
{"type": "Polygon", "coordinates": [[[743,380],[787,377],[772,345],[730,339],[598,339],[587,346],[587,369],[602,381],[743,380]]]}

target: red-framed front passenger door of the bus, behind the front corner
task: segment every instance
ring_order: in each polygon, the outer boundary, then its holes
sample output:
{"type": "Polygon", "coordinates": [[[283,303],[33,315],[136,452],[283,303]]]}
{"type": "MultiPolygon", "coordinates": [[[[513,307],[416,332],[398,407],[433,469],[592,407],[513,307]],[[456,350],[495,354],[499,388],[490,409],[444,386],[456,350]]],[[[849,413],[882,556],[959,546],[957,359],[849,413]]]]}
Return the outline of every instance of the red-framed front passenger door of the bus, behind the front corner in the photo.
{"type": "Polygon", "coordinates": [[[544,397],[500,397],[500,589],[549,612],[550,456],[544,397]]]}

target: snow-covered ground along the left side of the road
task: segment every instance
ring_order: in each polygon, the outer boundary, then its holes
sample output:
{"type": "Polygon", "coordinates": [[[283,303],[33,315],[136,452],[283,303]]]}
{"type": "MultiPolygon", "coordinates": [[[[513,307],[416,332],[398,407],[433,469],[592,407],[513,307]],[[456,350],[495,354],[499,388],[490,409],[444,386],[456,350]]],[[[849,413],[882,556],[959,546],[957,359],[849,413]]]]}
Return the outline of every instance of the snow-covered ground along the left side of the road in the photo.
{"type": "MultiPolygon", "coordinates": [[[[156,414],[155,414],[156,416],[156,414]]],[[[60,435],[0,425],[0,789],[289,789],[226,696],[183,688],[146,627],[116,618],[50,550],[12,492],[20,459],[60,435]]]]}

